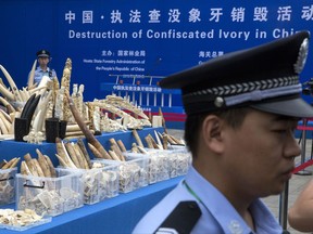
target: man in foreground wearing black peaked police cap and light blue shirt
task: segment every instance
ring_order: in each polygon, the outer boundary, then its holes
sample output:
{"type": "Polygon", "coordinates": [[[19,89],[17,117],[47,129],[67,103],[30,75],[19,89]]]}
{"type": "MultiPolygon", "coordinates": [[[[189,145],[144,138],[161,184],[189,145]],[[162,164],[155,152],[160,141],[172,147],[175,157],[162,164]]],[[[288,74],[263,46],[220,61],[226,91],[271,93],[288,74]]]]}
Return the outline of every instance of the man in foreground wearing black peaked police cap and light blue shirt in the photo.
{"type": "Polygon", "coordinates": [[[260,198],[283,192],[301,151],[293,130],[313,116],[299,82],[309,36],[224,54],[161,80],[181,89],[192,165],[135,234],[283,233],[260,198]]]}

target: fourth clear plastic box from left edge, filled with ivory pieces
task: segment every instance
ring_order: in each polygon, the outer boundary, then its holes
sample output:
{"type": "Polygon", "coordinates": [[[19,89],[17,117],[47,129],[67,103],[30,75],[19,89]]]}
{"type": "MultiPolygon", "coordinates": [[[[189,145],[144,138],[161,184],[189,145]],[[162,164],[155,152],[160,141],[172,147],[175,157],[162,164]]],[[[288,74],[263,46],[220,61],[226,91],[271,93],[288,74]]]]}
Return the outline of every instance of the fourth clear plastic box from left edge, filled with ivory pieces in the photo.
{"type": "Polygon", "coordinates": [[[145,158],[125,160],[97,159],[96,161],[104,164],[105,167],[117,166],[120,193],[128,193],[148,185],[148,161],[145,158]]]}

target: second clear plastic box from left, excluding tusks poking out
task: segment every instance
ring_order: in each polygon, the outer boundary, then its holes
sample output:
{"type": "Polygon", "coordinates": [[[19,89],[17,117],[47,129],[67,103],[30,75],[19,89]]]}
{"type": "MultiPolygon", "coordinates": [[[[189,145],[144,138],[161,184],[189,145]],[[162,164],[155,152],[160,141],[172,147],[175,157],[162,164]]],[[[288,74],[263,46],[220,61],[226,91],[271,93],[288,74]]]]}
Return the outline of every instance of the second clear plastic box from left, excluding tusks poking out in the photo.
{"type": "Polygon", "coordinates": [[[16,209],[59,216],[84,205],[82,173],[55,168],[55,178],[16,174],[16,209]]]}

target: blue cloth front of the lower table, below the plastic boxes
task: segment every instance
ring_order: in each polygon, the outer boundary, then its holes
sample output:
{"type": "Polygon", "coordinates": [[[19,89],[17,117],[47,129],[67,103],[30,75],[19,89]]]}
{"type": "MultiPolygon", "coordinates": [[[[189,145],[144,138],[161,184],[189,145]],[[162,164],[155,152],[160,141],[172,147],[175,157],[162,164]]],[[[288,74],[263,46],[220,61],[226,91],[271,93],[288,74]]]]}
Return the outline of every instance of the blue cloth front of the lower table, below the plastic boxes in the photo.
{"type": "MultiPolygon", "coordinates": [[[[50,223],[23,232],[0,230],[0,233],[128,234],[132,233],[140,218],[173,190],[183,178],[178,177],[151,184],[95,205],[85,205],[78,209],[53,217],[50,223]]],[[[14,205],[0,208],[14,208],[14,205]]]]}

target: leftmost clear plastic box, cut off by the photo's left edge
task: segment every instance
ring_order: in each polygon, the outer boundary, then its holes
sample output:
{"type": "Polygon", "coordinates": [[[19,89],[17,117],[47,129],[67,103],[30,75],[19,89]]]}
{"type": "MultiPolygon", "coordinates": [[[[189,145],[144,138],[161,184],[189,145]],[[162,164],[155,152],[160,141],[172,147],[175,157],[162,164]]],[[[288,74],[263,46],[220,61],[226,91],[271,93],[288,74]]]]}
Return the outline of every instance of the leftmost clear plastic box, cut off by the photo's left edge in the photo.
{"type": "Polygon", "coordinates": [[[0,169],[0,205],[15,202],[15,174],[17,168],[0,169]]]}

